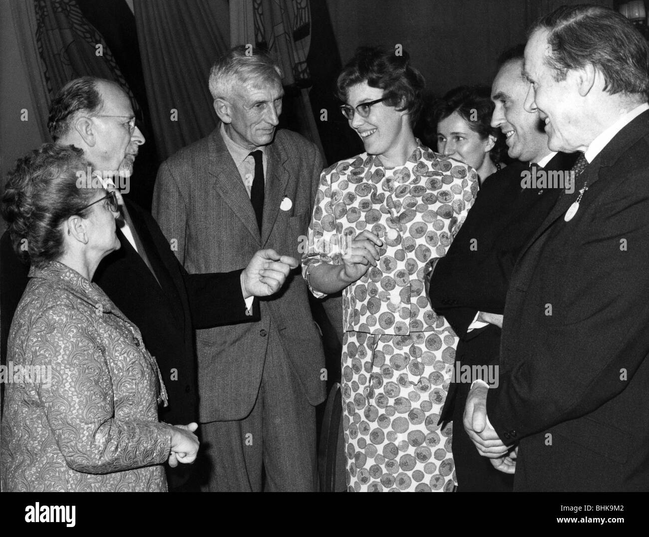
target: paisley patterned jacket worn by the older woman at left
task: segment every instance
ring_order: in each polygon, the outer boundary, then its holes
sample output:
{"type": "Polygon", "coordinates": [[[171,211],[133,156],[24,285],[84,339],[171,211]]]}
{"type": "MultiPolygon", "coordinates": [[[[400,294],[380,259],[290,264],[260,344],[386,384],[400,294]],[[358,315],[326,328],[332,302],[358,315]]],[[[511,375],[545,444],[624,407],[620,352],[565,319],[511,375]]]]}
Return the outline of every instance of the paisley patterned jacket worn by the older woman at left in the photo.
{"type": "Polygon", "coordinates": [[[140,331],[62,263],[29,276],[8,342],[3,490],[167,490],[166,394],[140,331]]]}

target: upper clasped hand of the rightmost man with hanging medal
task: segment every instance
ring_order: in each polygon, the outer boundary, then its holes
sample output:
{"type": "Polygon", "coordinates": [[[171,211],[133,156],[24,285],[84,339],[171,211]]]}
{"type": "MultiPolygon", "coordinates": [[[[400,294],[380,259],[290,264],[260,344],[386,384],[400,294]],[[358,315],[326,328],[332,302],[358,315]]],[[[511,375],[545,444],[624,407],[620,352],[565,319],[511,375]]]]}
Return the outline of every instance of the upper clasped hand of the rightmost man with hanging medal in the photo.
{"type": "Polygon", "coordinates": [[[498,459],[504,457],[509,448],[502,443],[498,433],[487,424],[487,388],[476,383],[464,407],[464,428],[483,457],[498,459]]]}

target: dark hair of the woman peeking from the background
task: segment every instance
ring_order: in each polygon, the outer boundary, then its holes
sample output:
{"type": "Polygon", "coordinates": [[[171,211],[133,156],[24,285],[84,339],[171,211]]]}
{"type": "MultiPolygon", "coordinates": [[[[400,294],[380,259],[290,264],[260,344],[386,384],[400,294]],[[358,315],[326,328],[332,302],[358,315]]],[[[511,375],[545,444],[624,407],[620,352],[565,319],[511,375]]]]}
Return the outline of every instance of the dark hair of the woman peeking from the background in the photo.
{"type": "Polygon", "coordinates": [[[499,128],[491,126],[491,115],[494,104],[491,101],[491,88],[489,86],[459,86],[451,89],[444,97],[439,99],[430,110],[428,124],[435,130],[437,138],[437,125],[453,112],[466,121],[473,132],[478,133],[480,139],[487,139],[489,135],[496,138],[496,143],[489,151],[489,156],[494,163],[502,160],[507,147],[499,128]],[[471,119],[476,117],[477,119],[471,119]]]}

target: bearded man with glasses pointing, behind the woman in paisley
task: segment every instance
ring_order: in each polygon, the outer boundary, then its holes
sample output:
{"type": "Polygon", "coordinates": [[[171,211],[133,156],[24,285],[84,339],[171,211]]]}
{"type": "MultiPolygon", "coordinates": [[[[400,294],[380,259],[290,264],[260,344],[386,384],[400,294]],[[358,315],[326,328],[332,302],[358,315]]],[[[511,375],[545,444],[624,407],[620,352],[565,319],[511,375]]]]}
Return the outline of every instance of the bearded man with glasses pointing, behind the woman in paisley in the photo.
{"type": "MultiPolygon", "coordinates": [[[[48,127],[57,143],[82,149],[104,178],[129,185],[138,147],[145,140],[135,125],[129,97],[119,85],[93,77],[72,80],[52,101],[48,127]]],[[[160,419],[171,424],[195,422],[193,328],[257,319],[258,306],[247,311],[245,299],[277,291],[289,272],[288,263],[297,266],[297,261],[263,250],[251,254],[244,270],[188,274],[153,217],[127,197],[119,199],[121,247],[103,259],[93,281],[140,328],[147,350],[156,357],[169,394],[169,406],[160,408],[160,419]]],[[[4,361],[8,328],[29,270],[10,247],[8,233],[1,239],[0,266],[4,361]]],[[[170,487],[186,481],[190,471],[191,467],[170,471],[170,487]]]]}

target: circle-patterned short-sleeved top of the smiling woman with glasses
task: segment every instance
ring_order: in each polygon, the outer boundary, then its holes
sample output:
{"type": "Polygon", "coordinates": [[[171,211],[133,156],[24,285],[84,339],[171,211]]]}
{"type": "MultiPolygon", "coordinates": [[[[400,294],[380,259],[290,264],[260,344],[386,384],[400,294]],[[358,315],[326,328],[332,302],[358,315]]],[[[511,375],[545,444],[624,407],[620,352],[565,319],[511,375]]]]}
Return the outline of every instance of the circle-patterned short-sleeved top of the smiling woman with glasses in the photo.
{"type": "MultiPolygon", "coordinates": [[[[362,153],[323,171],[302,275],[343,263],[347,244],[367,229],[384,241],[378,267],[343,291],[345,331],[407,335],[440,329],[424,291],[424,265],[443,257],[478,192],[478,174],[421,143],[406,164],[386,168],[362,153]]],[[[315,291],[317,297],[323,293],[315,291]]]]}

